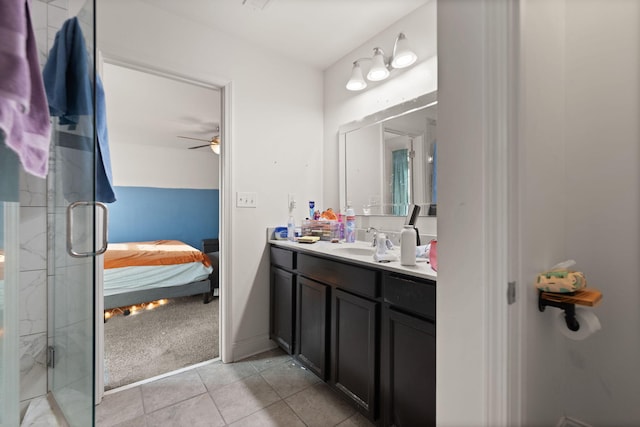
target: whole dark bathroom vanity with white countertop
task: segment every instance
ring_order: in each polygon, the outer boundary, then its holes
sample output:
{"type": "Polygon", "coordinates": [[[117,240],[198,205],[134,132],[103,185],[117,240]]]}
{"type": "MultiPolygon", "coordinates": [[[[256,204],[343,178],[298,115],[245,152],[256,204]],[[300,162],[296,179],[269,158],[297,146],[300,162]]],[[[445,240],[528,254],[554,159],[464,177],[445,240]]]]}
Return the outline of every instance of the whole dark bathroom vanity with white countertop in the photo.
{"type": "Polygon", "coordinates": [[[435,425],[436,273],[370,244],[270,240],[270,336],[381,426],[435,425]]]}

